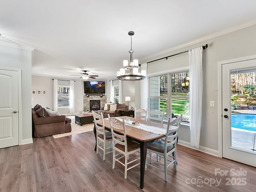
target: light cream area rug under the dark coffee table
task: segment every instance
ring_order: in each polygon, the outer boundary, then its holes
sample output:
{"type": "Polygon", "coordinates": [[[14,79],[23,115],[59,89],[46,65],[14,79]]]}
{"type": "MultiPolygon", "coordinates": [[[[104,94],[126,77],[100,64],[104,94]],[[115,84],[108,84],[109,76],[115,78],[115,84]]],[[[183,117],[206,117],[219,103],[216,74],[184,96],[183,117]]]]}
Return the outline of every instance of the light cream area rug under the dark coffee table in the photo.
{"type": "Polygon", "coordinates": [[[80,124],[75,123],[75,116],[68,116],[68,118],[71,119],[72,131],[68,132],[68,133],[53,135],[54,138],[59,138],[59,137],[65,137],[65,136],[69,136],[69,135],[84,133],[84,132],[92,131],[93,128],[94,128],[94,123],[83,124],[82,126],[80,126],[80,124]]]}

